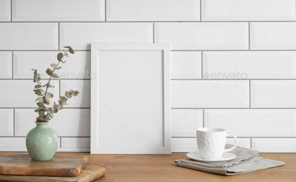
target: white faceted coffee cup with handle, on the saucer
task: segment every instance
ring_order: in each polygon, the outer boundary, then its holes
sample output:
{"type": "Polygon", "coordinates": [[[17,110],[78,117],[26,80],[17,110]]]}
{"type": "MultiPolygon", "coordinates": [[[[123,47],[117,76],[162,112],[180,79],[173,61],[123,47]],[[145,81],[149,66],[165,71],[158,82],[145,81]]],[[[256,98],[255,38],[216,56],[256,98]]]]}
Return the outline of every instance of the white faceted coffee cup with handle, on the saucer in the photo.
{"type": "Polygon", "coordinates": [[[202,158],[210,160],[220,159],[223,152],[229,152],[237,145],[235,135],[227,134],[226,129],[222,128],[198,128],[196,129],[196,139],[202,158]],[[224,149],[227,136],[232,136],[235,143],[231,148],[224,149]]]}

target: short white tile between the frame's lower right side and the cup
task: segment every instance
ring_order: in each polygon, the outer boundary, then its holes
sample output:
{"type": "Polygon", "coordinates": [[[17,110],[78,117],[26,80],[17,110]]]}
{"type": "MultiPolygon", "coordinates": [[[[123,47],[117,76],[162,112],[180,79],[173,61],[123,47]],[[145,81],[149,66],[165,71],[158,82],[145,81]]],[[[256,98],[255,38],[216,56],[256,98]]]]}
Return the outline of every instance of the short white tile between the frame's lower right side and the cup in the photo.
{"type": "Polygon", "coordinates": [[[202,109],[172,109],[172,136],[196,136],[203,127],[202,109]]]}

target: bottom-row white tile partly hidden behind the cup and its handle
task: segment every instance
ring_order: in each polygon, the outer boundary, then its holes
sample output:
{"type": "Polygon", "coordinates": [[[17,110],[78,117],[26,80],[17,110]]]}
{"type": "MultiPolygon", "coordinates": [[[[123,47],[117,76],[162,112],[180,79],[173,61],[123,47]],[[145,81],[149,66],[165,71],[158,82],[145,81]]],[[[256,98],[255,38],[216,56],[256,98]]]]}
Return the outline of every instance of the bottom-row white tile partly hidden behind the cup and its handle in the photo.
{"type": "MultiPolygon", "coordinates": [[[[238,138],[237,146],[250,148],[250,138],[238,138]]],[[[234,144],[234,139],[227,138],[226,144],[234,144]]],[[[172,138],[172,152],[197,151],[196,138],[172,138]]]]}

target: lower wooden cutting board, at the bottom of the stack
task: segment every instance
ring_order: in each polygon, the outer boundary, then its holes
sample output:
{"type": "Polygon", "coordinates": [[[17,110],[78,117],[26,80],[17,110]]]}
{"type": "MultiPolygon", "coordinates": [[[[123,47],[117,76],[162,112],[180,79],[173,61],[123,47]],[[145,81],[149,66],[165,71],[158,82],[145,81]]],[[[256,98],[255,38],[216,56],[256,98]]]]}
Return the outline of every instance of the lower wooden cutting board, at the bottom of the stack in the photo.
{"type": "Polygon", "coordinates": [[[25,175],[6,175],[0,174],[0,181],[9,182],[91,182],[94,181],[106,173],[104,167],[98,166],[85,166],[83,171],[77,176],[71,177],[57,177],[57,176],[25,176],[25,175]]]}

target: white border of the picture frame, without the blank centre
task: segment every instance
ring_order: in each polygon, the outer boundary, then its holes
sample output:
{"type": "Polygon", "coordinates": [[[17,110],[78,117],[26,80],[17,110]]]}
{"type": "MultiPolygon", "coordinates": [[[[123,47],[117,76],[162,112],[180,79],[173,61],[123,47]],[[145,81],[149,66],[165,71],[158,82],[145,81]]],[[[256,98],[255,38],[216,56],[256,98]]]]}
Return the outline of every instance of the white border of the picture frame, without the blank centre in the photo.
{"type": "Polygon", "coordinates": [[[170,44],[91,44],[91,73],[98,75],[97,54],[99,51],[163,51],[163,78],[164,78],[164,147],[98,147],[98,80],[91,79],[91,154],[172,154],[171,148],[171,71],[170,71],[170,44]],[[167,133],[167,134],[166,134],[167,133]]]}

